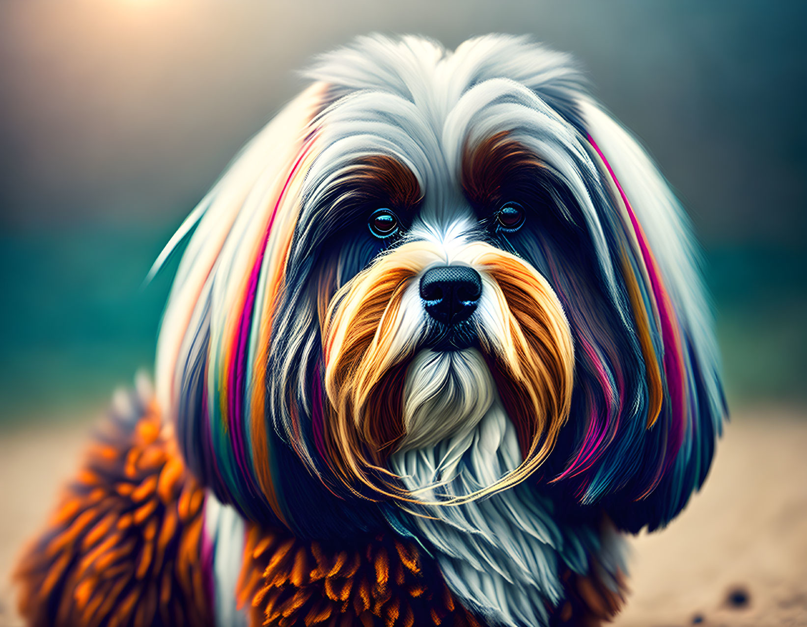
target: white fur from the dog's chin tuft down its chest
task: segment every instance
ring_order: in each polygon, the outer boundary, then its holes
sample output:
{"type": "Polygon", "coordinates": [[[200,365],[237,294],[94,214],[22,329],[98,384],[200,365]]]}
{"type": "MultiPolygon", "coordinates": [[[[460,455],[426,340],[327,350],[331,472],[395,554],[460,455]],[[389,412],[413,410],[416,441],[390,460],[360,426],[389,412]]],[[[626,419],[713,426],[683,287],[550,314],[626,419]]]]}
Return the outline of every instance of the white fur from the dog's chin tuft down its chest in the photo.
{"type": "MultiPolygon", "coordinates": [[[[528,484],[468,498],[491,492],[524,461],[482,353],[420,351],[406,377],[403,421],[388,462],[418,500],[402,505],[415,514],[403,524],[429,546],[452,592],[491,625],[546,625],[546,608],[562,598],[563,565],[585,570],[587,555],[604,545],[593,529],[556,520],[550,498],[528,484]]],[[[614,554],[621,565],[619,546],[614,554]]]]}

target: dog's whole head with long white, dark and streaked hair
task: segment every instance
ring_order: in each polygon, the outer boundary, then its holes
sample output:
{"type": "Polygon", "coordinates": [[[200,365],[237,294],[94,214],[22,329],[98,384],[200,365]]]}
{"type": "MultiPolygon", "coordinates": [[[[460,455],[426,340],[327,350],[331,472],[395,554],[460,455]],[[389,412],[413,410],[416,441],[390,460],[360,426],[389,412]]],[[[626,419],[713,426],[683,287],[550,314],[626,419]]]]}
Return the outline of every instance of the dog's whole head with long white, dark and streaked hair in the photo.
{"type": "Polygon", "coordinates": [[[194,472],[253,519],[366,529],[421,498],[395,455],[496,405],[521,458],[447,505],[529,480],[666,523],[720,430],[717,350],[675,197],[575,64],[368,37],[307,76],[175,238],[157,386],[194,472]]]}

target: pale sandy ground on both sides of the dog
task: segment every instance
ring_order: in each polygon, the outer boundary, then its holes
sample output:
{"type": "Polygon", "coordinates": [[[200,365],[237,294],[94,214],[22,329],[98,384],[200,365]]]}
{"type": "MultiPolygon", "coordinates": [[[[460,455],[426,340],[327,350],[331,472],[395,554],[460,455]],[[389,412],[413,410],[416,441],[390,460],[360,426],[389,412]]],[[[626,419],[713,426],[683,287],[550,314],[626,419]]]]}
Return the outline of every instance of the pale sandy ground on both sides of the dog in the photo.
{"type": "MultiPolygon", "coordinates": [[[[21,625],[7,573],[73,470],[86,418],[0,431],[0,625],[21,625]]],[[[807,412],[735,415],[703,491],[633,542],[617,627],[807,625],[807,412]],[[732,600],[732,597],[734,600],[732,600]]]]}

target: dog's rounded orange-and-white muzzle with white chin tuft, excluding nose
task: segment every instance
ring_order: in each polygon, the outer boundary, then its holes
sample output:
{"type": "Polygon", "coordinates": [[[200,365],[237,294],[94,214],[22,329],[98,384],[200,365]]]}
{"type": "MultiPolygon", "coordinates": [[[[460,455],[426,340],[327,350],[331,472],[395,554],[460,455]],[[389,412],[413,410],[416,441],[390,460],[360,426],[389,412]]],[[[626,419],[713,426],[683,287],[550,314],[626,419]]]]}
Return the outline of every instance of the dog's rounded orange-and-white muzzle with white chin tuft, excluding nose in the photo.
{"type": "Polygon", "coordinates": [[[388,467],[390,455],[470,433],[496,394],[523,462],[459,501],[521,482],[554,446],[571,402],[571,331],[550,285],[515,255],[475,242],[447,260],[433,243],[406,243],[381,255],[320,311],[329,401],[324,444],[350,487],[358,481],[383,496],[417,500],[388,467]],[[479,350],[429,350],[417,280],[446,261],[482,276],[483,296],[469,321],[479,350]]]}

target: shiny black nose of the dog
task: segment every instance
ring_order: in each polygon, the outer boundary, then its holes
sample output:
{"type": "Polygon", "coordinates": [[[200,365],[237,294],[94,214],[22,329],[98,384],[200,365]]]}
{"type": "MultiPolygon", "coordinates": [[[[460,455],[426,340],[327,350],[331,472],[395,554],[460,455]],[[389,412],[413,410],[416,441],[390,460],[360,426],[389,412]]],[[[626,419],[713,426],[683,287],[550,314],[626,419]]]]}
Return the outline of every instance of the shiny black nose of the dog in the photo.
{"type": "Polygon", "coordinates": [[[420,297],[429,315],[446,325],[470,318],[482,294],[482,277],[468,266],[429,268],[420,279],[420,297]]]}

